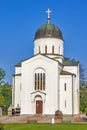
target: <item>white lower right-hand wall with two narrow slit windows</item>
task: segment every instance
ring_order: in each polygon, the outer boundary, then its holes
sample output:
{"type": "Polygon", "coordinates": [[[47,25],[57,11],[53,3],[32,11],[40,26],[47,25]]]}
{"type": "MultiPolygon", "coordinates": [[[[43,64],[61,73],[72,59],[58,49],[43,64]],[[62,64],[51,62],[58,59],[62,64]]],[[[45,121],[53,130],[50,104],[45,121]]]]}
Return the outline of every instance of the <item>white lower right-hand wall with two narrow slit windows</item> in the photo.
{"type": "Polygon", "coordinates": [[[63,114],[72,114],[72,75],[60,76],[60,110],[63,114]],[[66,91],[64,90],[65,83],[66,91]]]}

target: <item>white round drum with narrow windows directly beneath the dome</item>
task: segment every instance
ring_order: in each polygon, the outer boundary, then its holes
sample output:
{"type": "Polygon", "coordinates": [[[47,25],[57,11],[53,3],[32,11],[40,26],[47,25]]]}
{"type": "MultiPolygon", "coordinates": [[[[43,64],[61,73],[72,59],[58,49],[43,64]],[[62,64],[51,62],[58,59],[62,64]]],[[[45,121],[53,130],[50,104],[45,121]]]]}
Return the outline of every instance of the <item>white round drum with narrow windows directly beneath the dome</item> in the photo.
{"type": "Polygon", "coordinates": [[[45,46],[47,46],[47,53],[52,53],[52,46],[54,46],[54,54],[63,55],[63,41],[57,38],[40,38],[34,41],[34,54],[40,52],[45,53],[45,46]]]}

